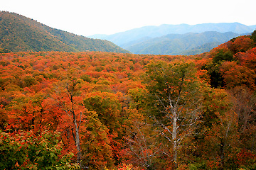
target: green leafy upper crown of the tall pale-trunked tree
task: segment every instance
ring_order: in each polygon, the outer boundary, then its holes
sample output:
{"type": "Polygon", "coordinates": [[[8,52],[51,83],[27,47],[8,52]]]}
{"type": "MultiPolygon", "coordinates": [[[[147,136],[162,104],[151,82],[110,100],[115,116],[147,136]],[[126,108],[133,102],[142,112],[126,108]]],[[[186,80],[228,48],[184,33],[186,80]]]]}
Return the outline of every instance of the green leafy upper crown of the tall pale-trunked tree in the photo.
{"type": "Polygon", "coordinates": [[[166,109],[162,107],[169,105],[169,98],[182,105],[198,95],[194,92],[200,84],[196,80],[196,69],[192,62],[152,62],[146,69],[146,89],[151,94],[150,100],[153,100],[149,103],[157,105],[159,110],[166,109]]]}

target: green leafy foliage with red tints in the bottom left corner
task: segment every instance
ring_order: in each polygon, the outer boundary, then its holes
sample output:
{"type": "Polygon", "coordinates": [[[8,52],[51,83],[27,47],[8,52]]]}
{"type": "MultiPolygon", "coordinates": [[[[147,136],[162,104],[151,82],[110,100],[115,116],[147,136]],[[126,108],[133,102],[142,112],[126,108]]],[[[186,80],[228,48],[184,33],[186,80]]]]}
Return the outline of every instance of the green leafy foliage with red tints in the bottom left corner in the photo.
{"type": "Polygon", "coordinates": [[[0,133],[0,169],[78,169],[73,154],[62,155],[59,135],[42,132],[0,133]]]}

